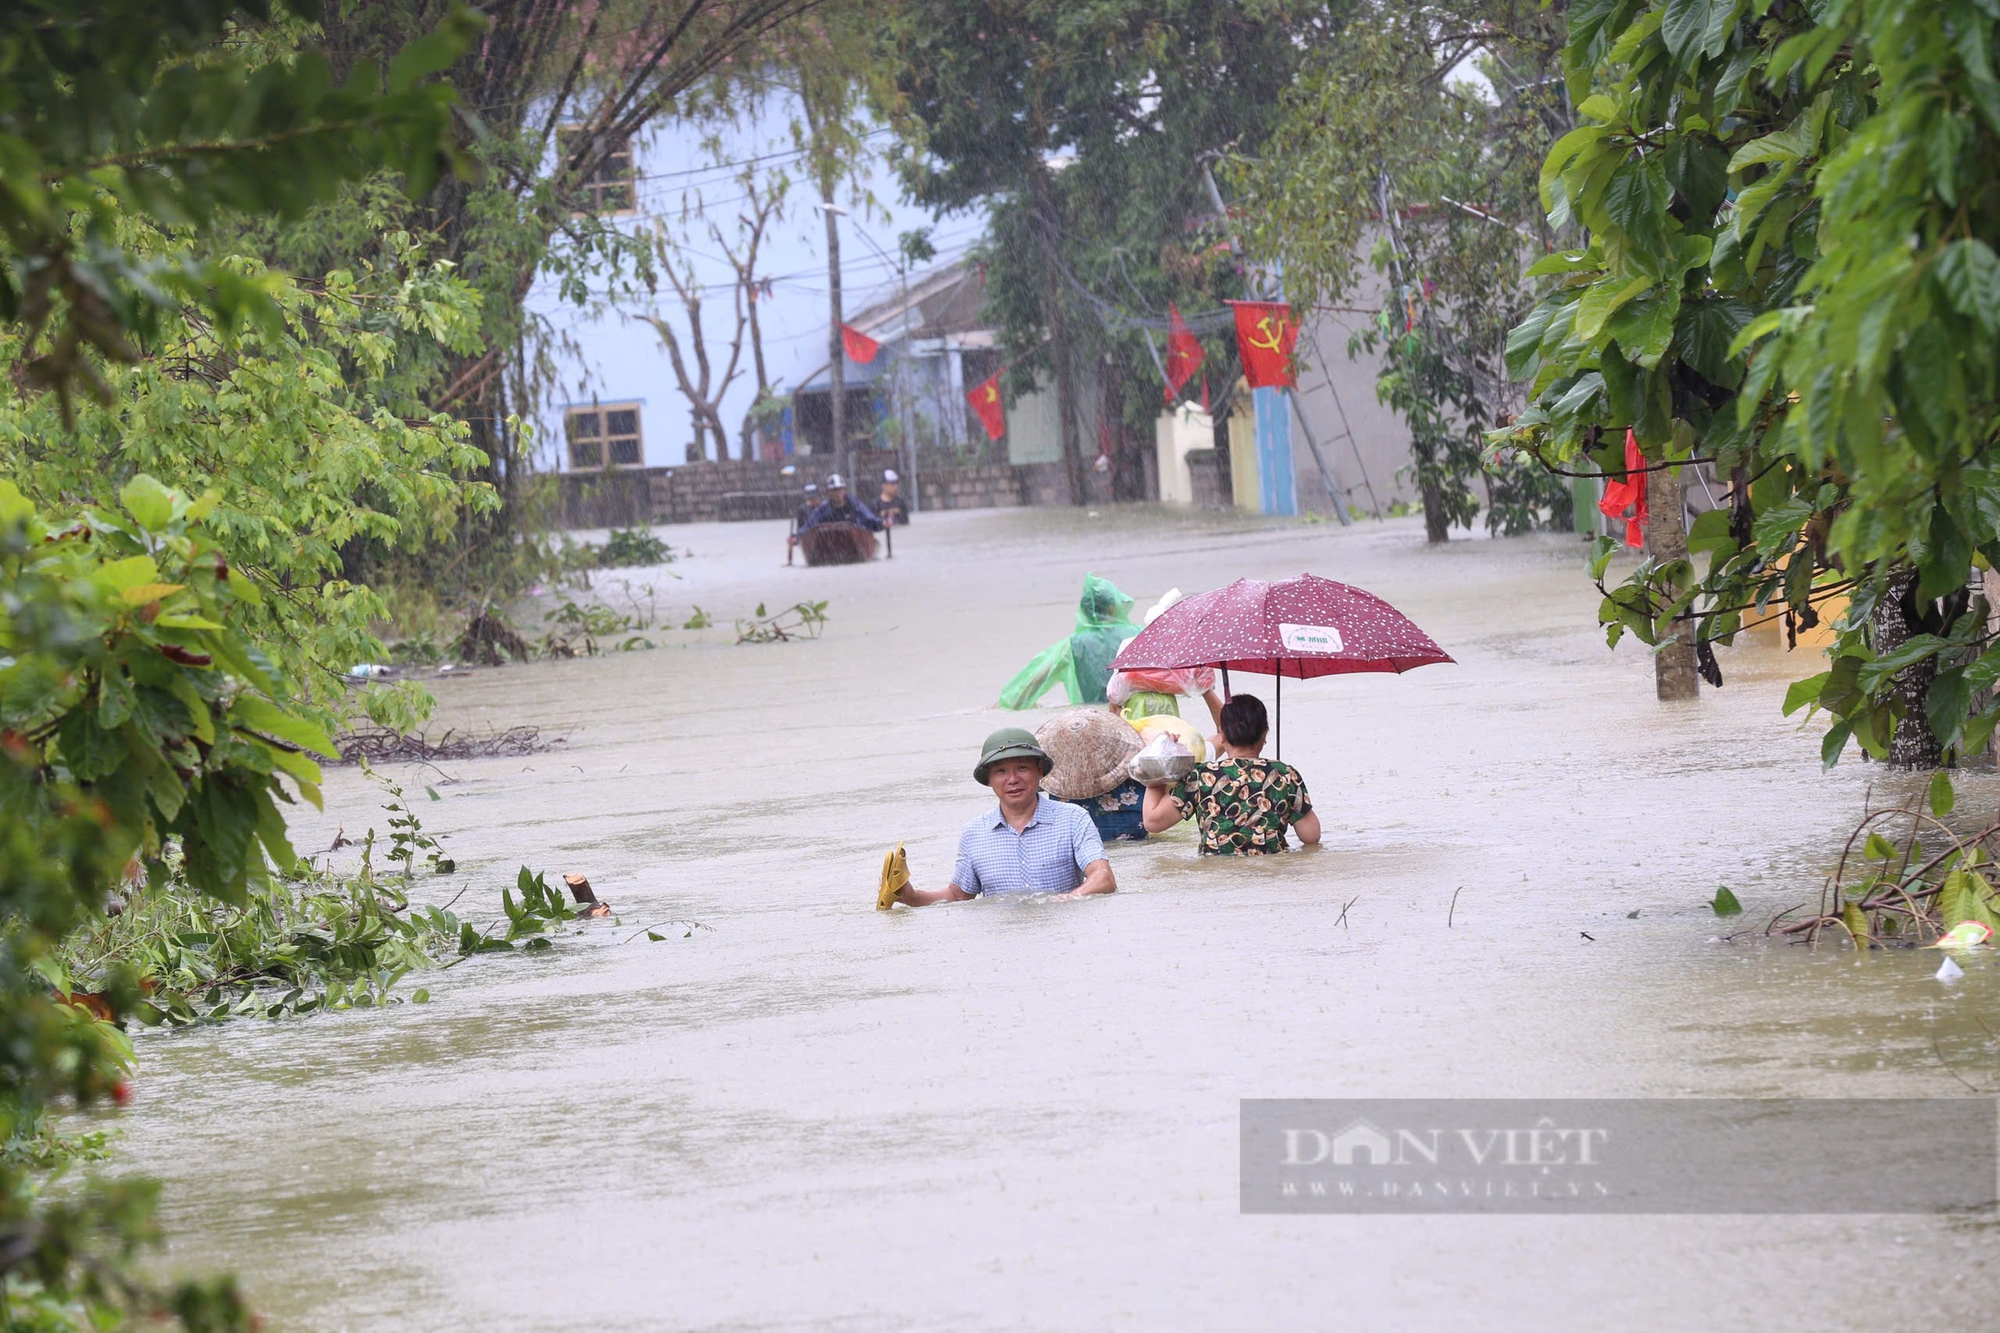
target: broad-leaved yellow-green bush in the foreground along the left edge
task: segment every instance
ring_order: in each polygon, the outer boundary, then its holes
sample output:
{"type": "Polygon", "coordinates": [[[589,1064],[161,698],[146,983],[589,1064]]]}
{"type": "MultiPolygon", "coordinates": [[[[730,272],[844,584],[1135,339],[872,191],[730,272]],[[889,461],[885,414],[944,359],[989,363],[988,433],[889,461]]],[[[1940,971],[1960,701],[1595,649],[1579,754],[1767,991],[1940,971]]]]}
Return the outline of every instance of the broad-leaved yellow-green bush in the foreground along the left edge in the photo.
{"type": "MultiPolygon", "coordinates": [[[[130,1047],[50,995],[56,943],[128,865],[164,883],[170,849],[196,893],[248,901],[266,855],[294,861],[280,779],[316,801],[312,755],[332,753],[242,628],[260,594],[202,532],[214,496],[140,474],[124,504],[50,530],[0,480],[0,1139],[38,1133],[60,1101],[122,1095],[130,1047]]],[[[142,1003],[128,969],[98,989],[110,1017],[142,1003]]],[[[22,1167],[0,1175],[10,1291],[48,1309],[164,1299],[108,1277],[150,1235],[148,1191],[42,1209],[22,1167]]]]}

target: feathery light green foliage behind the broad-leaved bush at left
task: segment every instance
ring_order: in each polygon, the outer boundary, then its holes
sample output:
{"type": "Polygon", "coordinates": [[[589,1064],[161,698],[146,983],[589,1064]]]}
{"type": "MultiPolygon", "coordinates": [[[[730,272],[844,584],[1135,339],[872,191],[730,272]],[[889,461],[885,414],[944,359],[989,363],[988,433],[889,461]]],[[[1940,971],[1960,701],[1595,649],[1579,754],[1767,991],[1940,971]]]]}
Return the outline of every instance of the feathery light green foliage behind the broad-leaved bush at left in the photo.
{"type": "MultiPolygon", "coordinates": [[[[148,228],[126,234],[142,252],[186,252],[148,228]]],[[[82,404],[72,430],[46,396],[0,400],[0,466],[30,498],[106,504],[140,470],[214,492],[204,532],[258,590],[246,628],[328,707],[344,707],[348,666],[382,658],[372,624],[388,616],[348,578],[348,554],[428,542],[464,506],[494,502],[458,480],[484,462],[464,422],[384,404],[406,336],[464,344],[472,330],[464,282],[408,238],[394,256],[310,288],[234,260],[258,272],[274,320],[226,334],[196,306],[156,312],[156,342],[104,368],[112,400],[82,404]]],[[[0,370],[26,346],[0,332],[0,370]]]]}

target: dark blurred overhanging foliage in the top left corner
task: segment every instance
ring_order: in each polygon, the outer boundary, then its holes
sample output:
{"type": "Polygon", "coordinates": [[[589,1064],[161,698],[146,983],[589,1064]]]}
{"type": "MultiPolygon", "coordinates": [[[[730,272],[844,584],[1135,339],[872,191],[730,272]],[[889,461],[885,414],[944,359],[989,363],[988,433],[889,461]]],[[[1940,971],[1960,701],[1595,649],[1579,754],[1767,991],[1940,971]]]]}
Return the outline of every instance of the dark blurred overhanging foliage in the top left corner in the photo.
{"type": "MultiPolygon", "coordinates": [[[[426,76],[478,30],[470,10],[454,8],[388,70],[358,64],[336,84],[316,54],[266,60],[224,40],[272,8],[26,0],[0,10],[0,320],[24,326],[22,376],[54,388],[64,416],[78,380],[110,398],[92,356],[136,360],[164,310],[198,302],[226,328],[278,318],[264,284],[222,260],[132,252],[124,218],[298,216],[370,170],[388,166],[422,194],[462,168],[452,90],[426,76]]],[[[288,8],[318,16],[312,0],[288,8]]]]}

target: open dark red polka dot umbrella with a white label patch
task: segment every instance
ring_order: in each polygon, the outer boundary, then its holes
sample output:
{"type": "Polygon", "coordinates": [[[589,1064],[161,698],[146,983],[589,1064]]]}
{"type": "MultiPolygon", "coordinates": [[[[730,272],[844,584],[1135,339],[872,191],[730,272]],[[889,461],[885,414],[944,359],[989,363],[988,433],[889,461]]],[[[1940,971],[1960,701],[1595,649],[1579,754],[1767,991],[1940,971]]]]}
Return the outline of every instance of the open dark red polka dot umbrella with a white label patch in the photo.
{"type": "MultiPolygon", "coordinates": [[[[1236,582],[1174,602],[1112,658],[1112,671],[1214,666],[1262,677],[1336,677],[1452,656],[1374,592],[1318,574],[1236,582]]],[[[1284,709],[1284,687],[1278,687],[1284,709]]]]}

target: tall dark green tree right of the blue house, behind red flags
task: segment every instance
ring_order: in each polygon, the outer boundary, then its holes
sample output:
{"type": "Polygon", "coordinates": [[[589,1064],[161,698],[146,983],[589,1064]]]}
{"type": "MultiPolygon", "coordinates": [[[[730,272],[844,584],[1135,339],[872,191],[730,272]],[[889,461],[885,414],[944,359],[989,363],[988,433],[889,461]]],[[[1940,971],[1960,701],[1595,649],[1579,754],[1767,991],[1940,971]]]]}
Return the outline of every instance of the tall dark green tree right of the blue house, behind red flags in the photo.
{"type": "MultiPolygon", "coordinates": [[[[1262,142],[1330,6],[928,0],[902,22],[904,178],[940,212],[990,208],[980,258],[1010,386],[1054,380],[1070,494],[1084,502],[1076,370],[1098,362],[1118,398],[1110,424],[1150,436],[1160,368],[1148,334],[1164,332],[1168,302],[1248,294],[1206,158],[1262,142]]],[[[1220,312],[1198,324],[1224,394],[1226,328],[1220,312]]]]}

